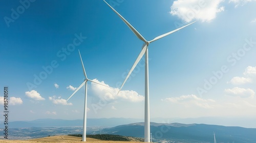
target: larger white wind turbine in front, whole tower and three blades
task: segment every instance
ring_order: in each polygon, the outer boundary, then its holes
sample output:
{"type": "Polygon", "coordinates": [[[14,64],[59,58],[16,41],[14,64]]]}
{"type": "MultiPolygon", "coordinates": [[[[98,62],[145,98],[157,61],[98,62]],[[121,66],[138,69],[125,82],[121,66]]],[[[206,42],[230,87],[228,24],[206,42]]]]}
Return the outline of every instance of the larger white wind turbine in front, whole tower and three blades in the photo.
{"type": "MultiPolygon", "coordinates": [[[[103,0],[104,1],[104,0],[103,0]]],[[[105,2],[105,1],[104,1],[105,2]]],[[[106,3],[106,2],[105,2],[106,3]]],[[[142,50],[138,56],[138,58],[136,59],[136,61],[134,62],[131,70],[129,71],[129,73],[127,74],[126,78],[124,79],[121,88],[119,91],[121,91],[124,83],[126,82],[126,80],[129,78],[129,76],[131,75],[131,73],[133,72],[134,68],[137,66],[137,64],[139,63],[139,61],[141,60],[142,56],[145,54],[145,117],[144,117],[144,141],[145,142],[150,142],[150,98],[149,98],[149,83],[148,83],[148,45],[158,39],[161,39],[167,35],[170,35],[174,32],[177,32],[179,30],[181,30],[182,28],[193,24],[195,22],[191,22],[185,26],[182,26],[180,28],[177,28],[174,31],[165,33],[163,35],[160,35],[156,38],[154,38],[151,41],[147,41],[145,40],[144,37],[142,37],[140,35],[140,33],[128,22],[126,21],[114,8],[112,8],[108,3],[106,3],[122,20],[123,22],[132,30],[132,32],[140,39],[144,42],[143,46],[142,46],[142,50]]],[[[119,93],[119,92],[118,92],[119,93]]]]}

